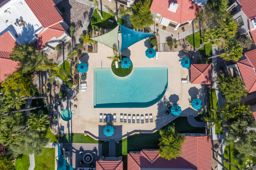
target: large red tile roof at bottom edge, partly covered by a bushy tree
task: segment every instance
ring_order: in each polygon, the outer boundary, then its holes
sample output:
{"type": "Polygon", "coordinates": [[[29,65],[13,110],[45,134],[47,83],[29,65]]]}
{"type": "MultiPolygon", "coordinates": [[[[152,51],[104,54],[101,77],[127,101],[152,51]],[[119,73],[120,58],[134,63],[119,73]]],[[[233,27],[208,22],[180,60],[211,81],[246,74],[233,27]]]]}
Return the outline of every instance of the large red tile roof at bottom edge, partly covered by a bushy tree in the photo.
{"type": "Polygon", "coordinates": [[[211,136],[186,136],[182,155],[168,161],[158,151],[128,154],[128,170],[140,168],[175,168],[211,170],[211,136]]]}

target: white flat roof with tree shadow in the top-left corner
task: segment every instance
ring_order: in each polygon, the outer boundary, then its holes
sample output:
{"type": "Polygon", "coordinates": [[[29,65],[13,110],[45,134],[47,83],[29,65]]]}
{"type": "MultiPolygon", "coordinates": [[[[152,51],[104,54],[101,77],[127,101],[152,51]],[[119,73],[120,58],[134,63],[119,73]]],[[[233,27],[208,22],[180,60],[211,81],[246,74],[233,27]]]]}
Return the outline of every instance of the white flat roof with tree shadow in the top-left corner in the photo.
{"type": "Polygon", "coordinates": [[[35,33],[39,33],[41,29],[42,25],[24,0],[11,0],[0,8],[0,35],[10,31],[13,36],[17,35],[15,37],[21,44],[30,43],[35,38],[35,33]],[[21,22],[18,20],[23,20],[26,24],[19,26],[21,22]]]}

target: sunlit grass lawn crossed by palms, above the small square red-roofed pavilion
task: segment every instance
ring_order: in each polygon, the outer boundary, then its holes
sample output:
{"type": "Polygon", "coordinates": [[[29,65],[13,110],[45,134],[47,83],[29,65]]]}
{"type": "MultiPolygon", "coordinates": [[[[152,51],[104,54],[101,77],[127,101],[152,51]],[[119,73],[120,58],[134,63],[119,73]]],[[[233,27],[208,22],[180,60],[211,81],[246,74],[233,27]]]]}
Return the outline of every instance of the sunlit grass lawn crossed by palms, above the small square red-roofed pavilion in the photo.
{"type": "MultiPolygon", "coordinates": [[[[200,40],[200,31],[197,31],[196,33],[188,35],[187,37],[187,42],[191,46],[194,46],[195,48],[198,48],[201,44],[200,40]]],[[[202,59],[205,61],[204,58],[211,57],[211,51],[212,51],[212,45],[211,44],[206,44],[203,48],[199,49],[200,55],[202,55],[202,59]]]]}

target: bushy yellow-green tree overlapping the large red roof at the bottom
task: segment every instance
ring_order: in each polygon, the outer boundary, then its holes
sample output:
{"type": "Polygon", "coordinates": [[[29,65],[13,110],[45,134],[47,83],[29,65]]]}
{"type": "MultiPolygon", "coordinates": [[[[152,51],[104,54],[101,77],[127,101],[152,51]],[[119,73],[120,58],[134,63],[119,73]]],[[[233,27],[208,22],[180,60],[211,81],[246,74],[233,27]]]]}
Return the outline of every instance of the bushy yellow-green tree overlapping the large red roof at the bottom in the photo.
{"type": "Polygon", "coordinates": [[[174,124],[160,130],[159,154],[161,157],[171,160],[182,154],[181,148],[186,137],[175,131],[174,124]]]}

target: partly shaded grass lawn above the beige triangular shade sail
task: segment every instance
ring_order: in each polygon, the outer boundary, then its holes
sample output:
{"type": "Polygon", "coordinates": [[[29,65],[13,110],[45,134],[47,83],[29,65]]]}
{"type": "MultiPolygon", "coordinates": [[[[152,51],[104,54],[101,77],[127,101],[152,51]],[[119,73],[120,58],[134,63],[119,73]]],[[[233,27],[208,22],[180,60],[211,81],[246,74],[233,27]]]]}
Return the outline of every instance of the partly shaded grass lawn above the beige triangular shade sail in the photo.
{"type": "MultiPolygon", "coordinates": [[[[91,17],[88,28],[90,29],[113,29],[117,26],[117,22],[115,17],[111,16],[109,13],[104,11],[100,11],[103,17],[101,20],[100,15],[97,13],[97,10],[94,10],[93,16],[91,17]],[[113,22],[109,22],[108,20],[113,20],[113,22]]],[[[118,22],[121,24],[125,24],[126,21],[124,19],[118,18],[118,22]]]]}

